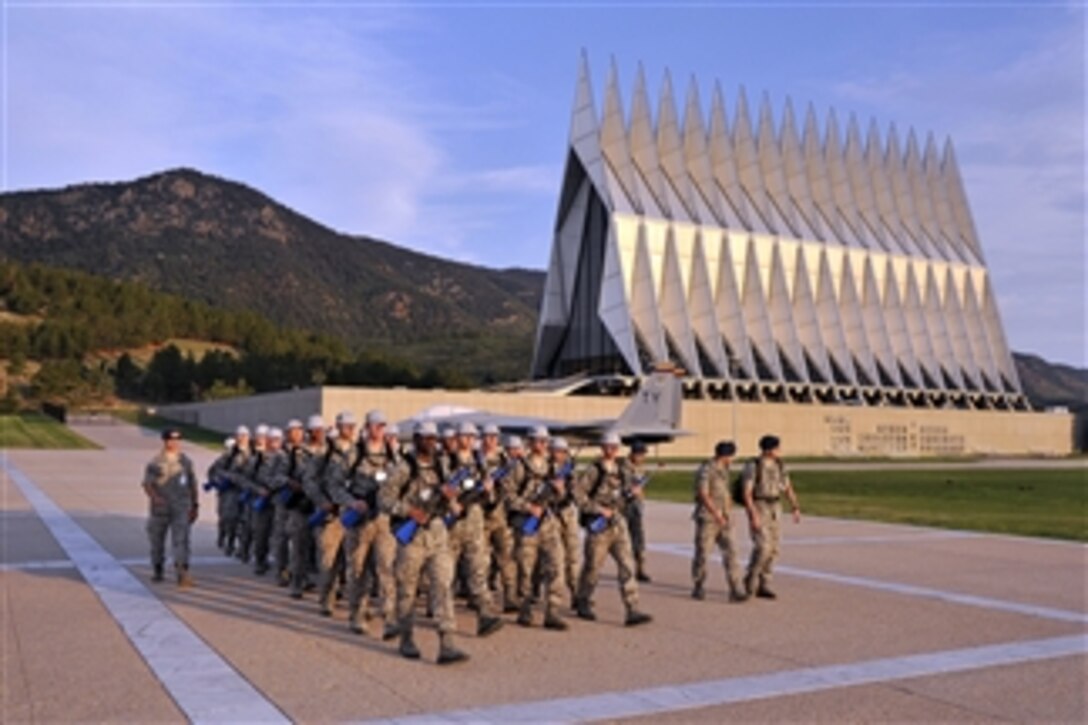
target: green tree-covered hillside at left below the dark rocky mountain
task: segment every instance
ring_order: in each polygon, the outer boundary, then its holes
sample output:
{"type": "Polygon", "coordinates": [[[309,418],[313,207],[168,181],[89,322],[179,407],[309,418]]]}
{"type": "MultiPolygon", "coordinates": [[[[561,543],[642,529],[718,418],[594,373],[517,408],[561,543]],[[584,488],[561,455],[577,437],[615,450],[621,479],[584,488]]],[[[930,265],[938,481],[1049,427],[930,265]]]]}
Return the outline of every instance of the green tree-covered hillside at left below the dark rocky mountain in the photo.
{"type": "Polygon", "coordinates": [[[419,369],[376,348],[353,351],[255,312],[11,261],[0,262],[0,360],[7,409],[115,395],[186,402],[320,383],[468,384],[448,370],[419,369]],[[189,340],[212,344],[170,344],[189,340]]]}

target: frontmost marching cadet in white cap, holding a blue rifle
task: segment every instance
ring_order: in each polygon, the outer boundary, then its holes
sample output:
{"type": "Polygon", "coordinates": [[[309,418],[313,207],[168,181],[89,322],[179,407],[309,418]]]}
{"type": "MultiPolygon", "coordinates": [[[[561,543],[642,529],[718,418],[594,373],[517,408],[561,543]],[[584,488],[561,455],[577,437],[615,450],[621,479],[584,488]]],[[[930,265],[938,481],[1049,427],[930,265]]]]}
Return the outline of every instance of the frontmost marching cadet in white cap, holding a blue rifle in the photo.
{"type": "Polygon", "coordinates": [[[428,572],[430,598],[438,624],[438,664],[452,664],[468,659],[454,643],[457,623],[449,582],[454,563],[449,556],[448,532],[443,517],[460,513],[454,492],[444,486],[437,463],[438,432],[433,422],[421,422],[415,431],[415,450],[408,456],[409,475],[400,490],[390,487],[386,508],[392,514],[397,539],[396,580],[397,618],[400,634],[399,652],[418,660],[419,648],[412,638],[416,616],[416,592],[422,570],[428,572]]]}

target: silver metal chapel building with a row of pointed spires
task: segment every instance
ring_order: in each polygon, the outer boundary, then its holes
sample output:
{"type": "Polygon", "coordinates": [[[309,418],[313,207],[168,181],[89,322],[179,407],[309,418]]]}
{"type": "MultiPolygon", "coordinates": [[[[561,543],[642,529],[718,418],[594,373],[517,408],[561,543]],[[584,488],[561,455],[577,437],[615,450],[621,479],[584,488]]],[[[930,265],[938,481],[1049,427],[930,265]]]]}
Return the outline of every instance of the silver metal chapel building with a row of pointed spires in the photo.
{"type": "Polygon", "coordinates": [[[534,374],[735,356],[779,400],[1022,404],[951,144],[811,103],[799,130],[789,99],[776,126],[766,94],[753,126],[743,89],[729,124],[717,84],[707,120],[694,79],[681,121],[668,72],[654,101],[644,78],[628,114],[613,62],[598,120],[579,66],[534,374]]]}

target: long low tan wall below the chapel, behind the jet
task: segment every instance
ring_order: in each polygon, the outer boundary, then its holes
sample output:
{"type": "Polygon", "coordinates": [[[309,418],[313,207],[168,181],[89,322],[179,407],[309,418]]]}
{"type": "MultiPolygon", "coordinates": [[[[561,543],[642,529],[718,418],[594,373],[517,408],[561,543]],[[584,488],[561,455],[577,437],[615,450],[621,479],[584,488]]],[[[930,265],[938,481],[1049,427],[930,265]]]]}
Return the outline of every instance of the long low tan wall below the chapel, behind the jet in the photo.
{"type": "MultiPolygon", "coordinates": [[[[435,405],[539,416],[560,420],[614,418],[630,398],[555,396],[540,393],[312,388],[232,401],[168,406],[160,414],[230,432],[239,422],[283,425],[314,411],[326,421],[339,410],[360,417],[381,408],[392,420],[435,405]]],[[[1067,455],[1073,452],[1070,414],[999,410],[926,410],[862,406],[684,401],[683,427],[693,435],[660,446],[663,455],[702,456],[720,439],[735,439],[742,454],[755,452],[764,433],[782,438],[791,455],[945,456],[1067,455]],[[735,433],[733,419],[735,416],[735,433]]]]}

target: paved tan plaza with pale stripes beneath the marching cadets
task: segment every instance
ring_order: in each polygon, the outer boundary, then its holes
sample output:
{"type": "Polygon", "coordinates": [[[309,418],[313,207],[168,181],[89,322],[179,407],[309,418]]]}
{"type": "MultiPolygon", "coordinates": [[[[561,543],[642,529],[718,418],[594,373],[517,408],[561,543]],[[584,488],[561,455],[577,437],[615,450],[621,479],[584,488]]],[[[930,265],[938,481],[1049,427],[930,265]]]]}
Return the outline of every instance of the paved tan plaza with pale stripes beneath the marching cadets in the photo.
{"type": "Polygon", "coordinates": [[[209,494],[198,586],[151,585],[138,483],[158,440],[79,432],[106,448],[0,453],[5,723],[1088,718],[1084,545],[809,518],[786,527],[778,601],[726,603],[715,568],[695,602],[690,507],[654,503],[653,624],[620,626],[606,578],[599,622],[466,634],[472,660],[438,668],[429,625],[408,662],[220,556],[209,494]]]}

